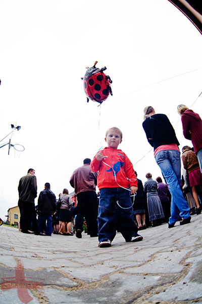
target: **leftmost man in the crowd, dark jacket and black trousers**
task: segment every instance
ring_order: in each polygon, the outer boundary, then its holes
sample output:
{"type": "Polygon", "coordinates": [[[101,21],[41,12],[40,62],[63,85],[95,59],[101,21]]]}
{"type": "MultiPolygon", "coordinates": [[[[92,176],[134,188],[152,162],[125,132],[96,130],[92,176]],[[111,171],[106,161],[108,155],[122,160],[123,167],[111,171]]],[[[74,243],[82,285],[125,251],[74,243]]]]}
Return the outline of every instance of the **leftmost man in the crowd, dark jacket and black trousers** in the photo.
{"type": "Polygon", "coordinates": [[[18,193],[18,205],[20,208],[22,223],[21,232],[29,234],[30,226],[32,223],[34,234],[38,235],[39,232],[34,205],[34,199],[37,196],[37,184],[34,169],[29,169],[27,175],[20,178],[18,185],[18,193]]]}

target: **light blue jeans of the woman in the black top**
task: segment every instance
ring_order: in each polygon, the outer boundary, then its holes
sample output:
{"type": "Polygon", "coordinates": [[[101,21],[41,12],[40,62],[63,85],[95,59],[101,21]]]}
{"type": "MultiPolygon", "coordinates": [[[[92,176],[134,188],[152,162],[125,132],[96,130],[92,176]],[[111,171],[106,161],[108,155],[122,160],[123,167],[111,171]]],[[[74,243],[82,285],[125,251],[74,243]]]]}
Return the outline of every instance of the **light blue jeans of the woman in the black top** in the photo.
{"type": "Polygon", "coordinates": [[[189,217],[190,208],[185,201],[181,188],[181,161],[180,152],[177,150],[160,151],[155,156],[156,162],[159,165],[169,191],[171,193],[171,217],[169,223],[173,225],[178,219],[179,215],[185,219],[189,217]]]}

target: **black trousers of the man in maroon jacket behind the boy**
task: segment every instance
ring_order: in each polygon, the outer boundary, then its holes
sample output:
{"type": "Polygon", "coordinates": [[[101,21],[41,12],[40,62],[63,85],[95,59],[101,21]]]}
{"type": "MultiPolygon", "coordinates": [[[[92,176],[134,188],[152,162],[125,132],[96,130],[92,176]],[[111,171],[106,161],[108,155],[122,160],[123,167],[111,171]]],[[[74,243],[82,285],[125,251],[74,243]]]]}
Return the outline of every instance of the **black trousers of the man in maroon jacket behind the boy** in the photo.
{"type": "Polygon", "coordinates": [[[97,196],[94,191],[85,191],[77,194],[77,216],[75,230],[83,231],[83,219],[86,219],[88,234],[97,235],[97,196]]]}

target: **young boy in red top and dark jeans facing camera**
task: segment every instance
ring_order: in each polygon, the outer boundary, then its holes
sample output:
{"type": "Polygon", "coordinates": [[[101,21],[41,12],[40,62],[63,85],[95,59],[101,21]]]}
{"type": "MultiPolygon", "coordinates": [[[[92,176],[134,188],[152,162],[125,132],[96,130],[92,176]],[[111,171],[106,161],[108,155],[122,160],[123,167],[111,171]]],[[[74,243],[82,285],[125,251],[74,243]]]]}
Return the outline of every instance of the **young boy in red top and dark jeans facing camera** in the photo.
{"type": "Polygon", "coordinates": [[[100,150],[91,162],[91,170],[99,171],[98,240],[99,247],[110,247],[116,236],[117,223],[126,242],[141,241],[132,214],[130,194],[137,191],[137,179],[129,158],[118,149],[122,132],[116,127],[106,132],[108,147],[100,150]],[[129,189],[130,186],[130,189],[129,189]]]}

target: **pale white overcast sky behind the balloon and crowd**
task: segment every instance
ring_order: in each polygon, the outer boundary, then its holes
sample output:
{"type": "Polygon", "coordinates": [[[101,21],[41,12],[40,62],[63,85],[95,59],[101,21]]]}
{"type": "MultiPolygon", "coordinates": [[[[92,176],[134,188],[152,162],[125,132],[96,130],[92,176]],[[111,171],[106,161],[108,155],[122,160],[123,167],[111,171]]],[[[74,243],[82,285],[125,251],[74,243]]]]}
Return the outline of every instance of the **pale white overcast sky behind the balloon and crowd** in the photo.
{"type": "Polygon", "coordinates": [[[38,195],[45,182],[57,198],[73,192],[73,171],[106,146],[113,126],[138,178],[162,176],[142,128],[145,106],[168,116],[180,150],[191,145],[177,105],[202,117],[202,39],[168,0],[0,0],[0,28],[0,140],[17,124],[11,143],[25,147],[19,158],[0,148],[2,219],[29,168],[38,195]],[[87,103],[81,80],[95,61],[113,81],[101,106],[87,103]]]}

